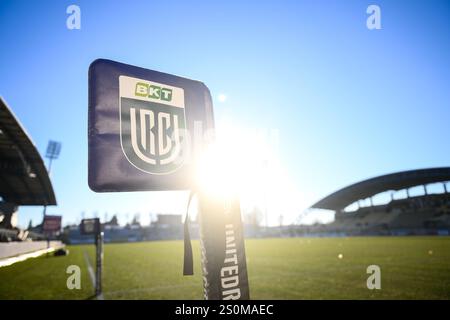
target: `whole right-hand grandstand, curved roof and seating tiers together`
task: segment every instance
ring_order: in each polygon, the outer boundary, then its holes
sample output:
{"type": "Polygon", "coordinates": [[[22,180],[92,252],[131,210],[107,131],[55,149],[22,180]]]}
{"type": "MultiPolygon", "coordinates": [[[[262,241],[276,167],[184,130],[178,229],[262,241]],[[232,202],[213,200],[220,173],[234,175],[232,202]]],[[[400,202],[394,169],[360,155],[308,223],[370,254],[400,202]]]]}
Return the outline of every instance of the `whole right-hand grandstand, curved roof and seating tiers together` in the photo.
{"type": "Polygon", "coordinates": [[[403,171],[350,185],[311,206],[335,212],[335,220],[316,232],[343,235],[448,235],[450,194],[446,183],[450,168],[403,171]],[[427,185],[442,183],[443,193],[428,194],[427,185]],[[408,190],[423,186],[424,194],[410,196],[408,190]],[[360,207],[359,201],[387,191],[406,190],[404,199],[391,198],[386,204],[360,207]],[[352,204],[358,209],[347,211],[352,204]]]}

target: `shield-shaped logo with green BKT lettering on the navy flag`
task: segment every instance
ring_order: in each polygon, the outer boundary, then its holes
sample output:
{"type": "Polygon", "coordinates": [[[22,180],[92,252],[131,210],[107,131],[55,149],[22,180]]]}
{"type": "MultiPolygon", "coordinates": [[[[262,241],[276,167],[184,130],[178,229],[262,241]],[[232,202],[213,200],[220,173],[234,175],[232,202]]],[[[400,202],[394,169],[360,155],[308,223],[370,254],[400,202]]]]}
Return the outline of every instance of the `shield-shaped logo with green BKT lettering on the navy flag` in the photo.
{"type": "Polygon", "coordinates": [[[186,129],[183,89],[126,76],[119,77],[119,87],[121,144],[128,161],[151,174],[178,169],[186,129]]]}

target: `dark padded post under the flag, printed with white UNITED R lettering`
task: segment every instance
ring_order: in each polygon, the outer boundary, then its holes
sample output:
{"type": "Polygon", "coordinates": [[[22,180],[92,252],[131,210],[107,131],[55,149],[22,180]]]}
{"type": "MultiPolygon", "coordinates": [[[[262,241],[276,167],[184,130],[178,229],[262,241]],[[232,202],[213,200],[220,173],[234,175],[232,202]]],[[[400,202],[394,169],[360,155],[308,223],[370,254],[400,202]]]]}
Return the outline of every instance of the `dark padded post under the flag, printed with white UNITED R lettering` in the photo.
{"type": "Polygon", "coordinates": [[[250,299],[239,198],[198,196],[204,298],[250,299]]]}

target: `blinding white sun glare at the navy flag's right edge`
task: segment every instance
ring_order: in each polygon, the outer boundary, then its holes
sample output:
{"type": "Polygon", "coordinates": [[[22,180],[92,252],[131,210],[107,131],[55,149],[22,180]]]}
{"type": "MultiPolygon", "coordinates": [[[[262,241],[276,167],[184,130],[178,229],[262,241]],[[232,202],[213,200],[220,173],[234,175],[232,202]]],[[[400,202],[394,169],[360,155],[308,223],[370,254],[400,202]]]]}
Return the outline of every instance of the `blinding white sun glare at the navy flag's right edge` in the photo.
{"type": "Polygon", "coordinates": [[[299,196],[278,158],[278,132],[218,127],[216,140],[197,165],[197,185],[215,196],[237,193],[247,207],[259,207],[271,220],[296,214],[299,196]]]}

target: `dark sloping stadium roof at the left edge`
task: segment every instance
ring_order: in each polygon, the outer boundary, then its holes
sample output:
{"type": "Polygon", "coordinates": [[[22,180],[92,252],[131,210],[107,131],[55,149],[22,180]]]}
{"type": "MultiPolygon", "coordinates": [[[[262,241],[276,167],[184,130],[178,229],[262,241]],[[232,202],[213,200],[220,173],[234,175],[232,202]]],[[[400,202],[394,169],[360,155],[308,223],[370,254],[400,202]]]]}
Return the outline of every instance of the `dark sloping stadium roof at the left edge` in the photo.
{"type": "Polygon", "coordinates": [[[44,161],[1,97],[0,197],[16,205],[56,205],[44,161]]]}

